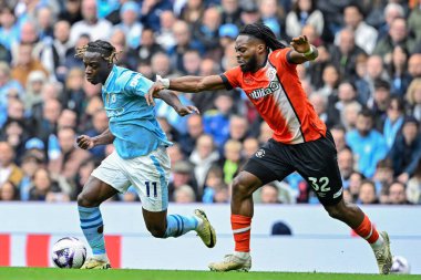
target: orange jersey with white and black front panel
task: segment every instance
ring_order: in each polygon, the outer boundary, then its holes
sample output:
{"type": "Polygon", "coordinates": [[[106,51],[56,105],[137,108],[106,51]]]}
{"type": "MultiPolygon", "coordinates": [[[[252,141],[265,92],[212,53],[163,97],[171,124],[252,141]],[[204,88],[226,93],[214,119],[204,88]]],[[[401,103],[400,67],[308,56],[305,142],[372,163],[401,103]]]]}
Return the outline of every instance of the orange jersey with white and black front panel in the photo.
{"type": "Polygon", "coordinates": [[[266,65],[257,72],[243,72],[239,66],[226,71],[222,79],[228,90],[240,87],[274,131],[274,139],[299,144],[326,136],[320,121],[289,63],[290,48],[269,53],[266,65]]]}

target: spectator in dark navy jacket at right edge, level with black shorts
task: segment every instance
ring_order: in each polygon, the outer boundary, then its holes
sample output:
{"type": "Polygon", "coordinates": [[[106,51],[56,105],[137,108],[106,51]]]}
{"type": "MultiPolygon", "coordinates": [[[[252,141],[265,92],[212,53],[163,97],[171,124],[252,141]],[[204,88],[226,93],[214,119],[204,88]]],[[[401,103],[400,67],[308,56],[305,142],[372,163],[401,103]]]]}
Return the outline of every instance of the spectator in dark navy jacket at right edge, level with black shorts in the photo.
{"type": "Polygon", "coordinates": [[[394,176],[407,184],[421,159],[421,134],[419,122],[414,117],[404,120],[402,132],[397,136],[388,157],[393,163],[394,176]]]}

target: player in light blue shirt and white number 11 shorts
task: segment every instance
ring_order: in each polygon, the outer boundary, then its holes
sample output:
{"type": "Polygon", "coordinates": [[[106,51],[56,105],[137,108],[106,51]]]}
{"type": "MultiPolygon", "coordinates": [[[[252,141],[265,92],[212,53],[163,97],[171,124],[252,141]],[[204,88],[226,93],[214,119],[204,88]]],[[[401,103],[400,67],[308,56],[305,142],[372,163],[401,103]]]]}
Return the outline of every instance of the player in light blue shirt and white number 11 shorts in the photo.
{"type": "MultiPolygon", "coordinates": [[[[131,185],[137,190],[146,228],[154,237],[179,237],[195,230],[207,247],[216,243],[215,230],[204,211],[196,209],[192,216],[167,215],[170,158],[166,147],[171,142],[144,97],[153,82],[116,66],[115,55],[115,48],[101,40],[76,49],[75,55],[83,59],[86,80],[102,84],[102,98],[110,118],[105,132],[95,137],[79,136],[78,146],[84,149],[110,143],[115,146],[115,152],[92,172],[78,196],[81,228],[93,252],[82,269],[110,268],[99,206],[131,185]]],[[[173,92],[162,91],[160,97],[179,115],[197,112],[194,106],[182,105],[173,92]]]]}

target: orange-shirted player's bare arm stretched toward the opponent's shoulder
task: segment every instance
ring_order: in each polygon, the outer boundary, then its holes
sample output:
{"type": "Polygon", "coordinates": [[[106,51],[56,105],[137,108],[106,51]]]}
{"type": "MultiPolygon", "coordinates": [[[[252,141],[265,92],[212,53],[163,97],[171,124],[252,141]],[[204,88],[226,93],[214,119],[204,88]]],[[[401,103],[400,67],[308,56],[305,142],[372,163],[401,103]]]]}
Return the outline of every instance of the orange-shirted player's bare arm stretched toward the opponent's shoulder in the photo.
{"type": "Polygon", "coordinates": [[[225,89],[225,84],[219,75],[158,79],[145,95],[147,104],[154,104],[153,98],[158,97],[158,92],[165,89],[178,92],[197,93],[203,91],[223,90],[225,89]]]}

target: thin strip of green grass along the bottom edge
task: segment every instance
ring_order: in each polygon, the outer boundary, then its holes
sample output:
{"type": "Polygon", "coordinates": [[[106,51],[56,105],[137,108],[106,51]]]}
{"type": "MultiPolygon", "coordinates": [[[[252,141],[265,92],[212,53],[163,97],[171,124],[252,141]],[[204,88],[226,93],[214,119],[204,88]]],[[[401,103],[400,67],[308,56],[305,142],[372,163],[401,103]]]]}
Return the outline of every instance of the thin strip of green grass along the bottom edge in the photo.
{"type": "Polygon", "coordinates": [[[420,276],[185,270],[0,268],[0,280],[415,280],[420,276]]]}

